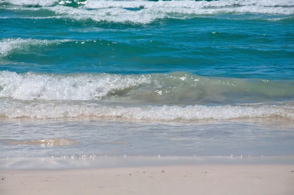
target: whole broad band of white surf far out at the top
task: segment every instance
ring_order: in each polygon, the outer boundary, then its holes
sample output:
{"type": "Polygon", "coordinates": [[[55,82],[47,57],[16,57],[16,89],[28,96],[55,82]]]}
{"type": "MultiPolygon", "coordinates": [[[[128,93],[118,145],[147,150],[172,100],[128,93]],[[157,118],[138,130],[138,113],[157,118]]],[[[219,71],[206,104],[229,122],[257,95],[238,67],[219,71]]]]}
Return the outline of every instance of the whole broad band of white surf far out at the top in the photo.
{"type": "MultiPolygon", "coordinates": [[[[52,11],[56,18],[74,20],[131,22],[148,24],[156,19],[187,19],[217,14],[294,14],[292,0],[87,0],[87,1],[39,1],[39,0],[6,0],[11,4],[38,4],[43,7],[7,7],[5,9],[29,9],[31,11],[52,11]],[[77,6],[76,6],[77,5],[77,6]]],[[[5,1],[5,2],[6,2],[5,1]]],[[[35,16],[37,17],[37,16],[35,16]]],[[[40,15],[38,18],[42,18],[40,15]]]]}

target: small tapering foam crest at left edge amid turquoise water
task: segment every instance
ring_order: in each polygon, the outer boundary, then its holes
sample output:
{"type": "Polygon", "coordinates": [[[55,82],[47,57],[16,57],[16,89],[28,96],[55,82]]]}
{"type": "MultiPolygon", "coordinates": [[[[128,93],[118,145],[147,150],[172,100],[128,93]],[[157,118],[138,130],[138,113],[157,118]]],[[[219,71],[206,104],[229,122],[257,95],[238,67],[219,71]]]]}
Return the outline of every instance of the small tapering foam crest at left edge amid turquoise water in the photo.
{"type": "Polygon", "coordinates": [[[13,51],[29,50],[35,47],[59,45],[71,40],[41,40],[41,39],[2,39],[0,40],[0,57],[7,56],[13,51]]]}

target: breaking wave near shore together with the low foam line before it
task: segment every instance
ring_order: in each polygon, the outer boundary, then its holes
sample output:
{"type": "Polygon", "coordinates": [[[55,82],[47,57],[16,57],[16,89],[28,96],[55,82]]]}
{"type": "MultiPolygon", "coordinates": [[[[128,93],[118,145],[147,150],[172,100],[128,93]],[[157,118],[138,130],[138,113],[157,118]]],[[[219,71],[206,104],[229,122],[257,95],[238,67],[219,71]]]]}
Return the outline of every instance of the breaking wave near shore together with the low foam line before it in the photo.
{"type": "Polygon", "coordinates": [[[0,117],[294,120],[293,81],[169,74],[0,72],[0,117]]]}

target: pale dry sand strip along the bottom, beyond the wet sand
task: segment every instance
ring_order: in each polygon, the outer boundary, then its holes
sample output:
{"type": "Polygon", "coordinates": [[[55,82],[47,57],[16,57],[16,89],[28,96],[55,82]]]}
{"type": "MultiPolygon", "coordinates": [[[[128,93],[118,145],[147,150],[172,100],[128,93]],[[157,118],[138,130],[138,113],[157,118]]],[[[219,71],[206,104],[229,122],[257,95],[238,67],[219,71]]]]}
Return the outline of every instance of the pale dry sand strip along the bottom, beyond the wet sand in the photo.
{"type": "Polygon", "coordinates": [[[294,195],[294,165],[0,171],[0,195],[294,195]]]}

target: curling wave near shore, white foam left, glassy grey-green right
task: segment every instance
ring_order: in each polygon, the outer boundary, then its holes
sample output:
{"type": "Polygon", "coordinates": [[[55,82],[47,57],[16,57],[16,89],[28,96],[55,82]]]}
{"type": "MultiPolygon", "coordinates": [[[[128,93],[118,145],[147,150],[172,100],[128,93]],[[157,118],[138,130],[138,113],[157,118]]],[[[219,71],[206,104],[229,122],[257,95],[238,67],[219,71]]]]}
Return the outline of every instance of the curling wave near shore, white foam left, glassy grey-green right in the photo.
{"type": "Polygon", "coordinates": [[[168,74],[0,72],[0,97],[112,100],[160,104],[231,104],[294,99],[294,81],[168,74]]]}

